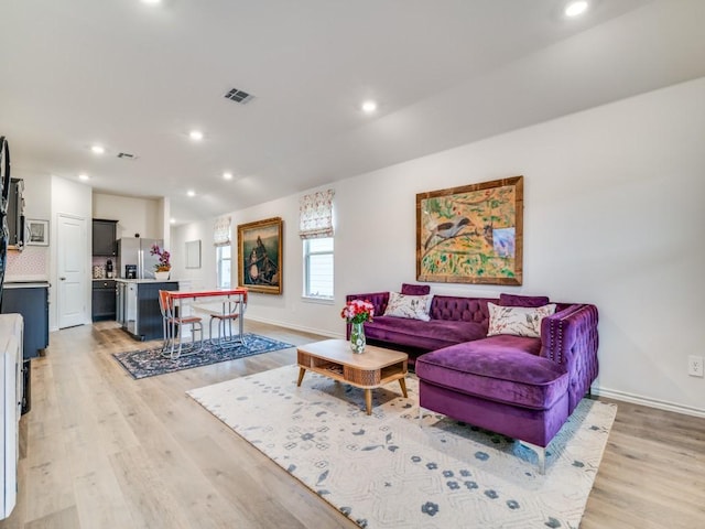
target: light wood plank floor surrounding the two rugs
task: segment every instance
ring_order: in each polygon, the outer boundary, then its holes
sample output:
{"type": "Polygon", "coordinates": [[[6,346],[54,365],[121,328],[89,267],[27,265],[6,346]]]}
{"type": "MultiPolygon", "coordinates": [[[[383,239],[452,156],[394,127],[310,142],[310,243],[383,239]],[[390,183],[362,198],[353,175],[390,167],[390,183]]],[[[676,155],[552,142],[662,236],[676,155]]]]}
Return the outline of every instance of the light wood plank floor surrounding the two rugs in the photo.
{"type": "MultiPolygon", "coordinates": [[[[184,393],[294,364],[294,348],[143,380],[110,356],[149,345],[115,323],[52,333],[32,360],[19,500],[0,528],[357,527],[184,393]]],[[[705,527],[705,419],[619,403],[581,527],[705,527]]]]}

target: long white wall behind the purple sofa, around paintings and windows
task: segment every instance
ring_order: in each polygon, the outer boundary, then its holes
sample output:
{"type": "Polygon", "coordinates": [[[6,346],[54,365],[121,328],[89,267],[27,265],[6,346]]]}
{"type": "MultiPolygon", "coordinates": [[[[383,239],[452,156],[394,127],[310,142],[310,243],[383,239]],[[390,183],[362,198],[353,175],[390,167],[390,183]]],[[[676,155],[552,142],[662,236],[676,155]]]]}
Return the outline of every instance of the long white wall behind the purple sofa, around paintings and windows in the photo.
{"type": "MultiPolygon", "coordinates": [[[[346,294],[414,281],[416,193],[523,174],[524,284],[432,292],[595,303],[598,391],[705,414],[705,379],[686,374],[705,355],[703,138],[705,78],[338,182],[333,305],[301,299],[299,195],[235,212],[234,227],[284,220],[283,295],[252,294],[248,316],[340,335],[346,294]]],[[[206,240],[212,224],[198,229],[206,240]]]]}

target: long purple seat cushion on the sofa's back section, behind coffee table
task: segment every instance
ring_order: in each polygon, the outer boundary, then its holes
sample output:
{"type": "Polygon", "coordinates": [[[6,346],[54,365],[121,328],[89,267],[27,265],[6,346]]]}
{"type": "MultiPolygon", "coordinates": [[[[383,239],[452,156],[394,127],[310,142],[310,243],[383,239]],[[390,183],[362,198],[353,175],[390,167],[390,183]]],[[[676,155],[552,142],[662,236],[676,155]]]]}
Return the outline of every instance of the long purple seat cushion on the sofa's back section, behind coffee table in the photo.
{"type": "Polygon", "coordinates": [[[487,327],[473,322],[420,322],[394,316],[375,316],[375,320],[365,323],[365,335],[371,339],[433,350],[484,338],[487,336],[487,327]]]}

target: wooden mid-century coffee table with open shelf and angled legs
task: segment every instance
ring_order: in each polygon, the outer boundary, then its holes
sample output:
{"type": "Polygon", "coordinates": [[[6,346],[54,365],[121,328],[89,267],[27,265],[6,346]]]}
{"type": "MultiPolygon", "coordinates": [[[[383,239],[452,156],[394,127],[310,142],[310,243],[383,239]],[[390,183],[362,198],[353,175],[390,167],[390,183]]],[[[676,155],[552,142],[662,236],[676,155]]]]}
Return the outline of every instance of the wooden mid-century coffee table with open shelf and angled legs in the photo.
{"type": "Polygon", "coordinates": [[[345,339],[325,339],[296,348],[299,356],[299,382],[301,386],[306,370],[311,370],[365,390],[367,414],[372,413],[372,389],[399,380],[401,392],[406,395],[406,353],[368,345],[365,353],[350,350],[345,339]]]}

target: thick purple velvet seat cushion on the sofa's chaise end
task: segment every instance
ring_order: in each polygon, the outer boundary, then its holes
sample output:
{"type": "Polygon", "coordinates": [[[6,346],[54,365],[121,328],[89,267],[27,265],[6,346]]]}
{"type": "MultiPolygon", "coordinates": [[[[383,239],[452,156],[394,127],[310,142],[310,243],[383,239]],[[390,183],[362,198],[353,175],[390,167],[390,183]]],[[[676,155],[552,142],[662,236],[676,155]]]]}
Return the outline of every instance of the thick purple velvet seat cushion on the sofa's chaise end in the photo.
{"type": "Polygon", "coordinates": [[[540,338],[499,335],[416,358],[416,376],[462,393],[535,410],[567,391],[564,366],[538,356],[540,338]]]}

